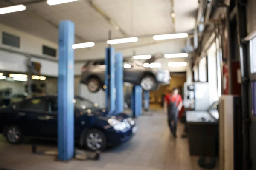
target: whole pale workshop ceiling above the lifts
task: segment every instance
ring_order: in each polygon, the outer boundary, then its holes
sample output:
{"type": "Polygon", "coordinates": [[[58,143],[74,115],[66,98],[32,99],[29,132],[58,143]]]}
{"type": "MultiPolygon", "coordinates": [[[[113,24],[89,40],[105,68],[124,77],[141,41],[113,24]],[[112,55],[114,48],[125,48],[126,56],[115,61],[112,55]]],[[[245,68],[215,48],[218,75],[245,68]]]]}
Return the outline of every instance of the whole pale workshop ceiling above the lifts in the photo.
{"type": "MultiPolygon", "coordinates": [[[[0,0],[0,7],[35,0],[0,0]]],[[[175,24],[171,17],[171,0],[93,0],[126,34],[143,37],[154,34],[190,32],[195,28],[198,0],[174,0],[175,24]],[[175,28],[175,29],[174,29],[175,28]]],[[[76,43],[123,38],[102,15],[80,0],[56,6],[46,2],[26,5],[26,11],[0,15],[0,23],[29,34],[57,42],[58,23],[71,20],[75,23],[76,43]]]]}

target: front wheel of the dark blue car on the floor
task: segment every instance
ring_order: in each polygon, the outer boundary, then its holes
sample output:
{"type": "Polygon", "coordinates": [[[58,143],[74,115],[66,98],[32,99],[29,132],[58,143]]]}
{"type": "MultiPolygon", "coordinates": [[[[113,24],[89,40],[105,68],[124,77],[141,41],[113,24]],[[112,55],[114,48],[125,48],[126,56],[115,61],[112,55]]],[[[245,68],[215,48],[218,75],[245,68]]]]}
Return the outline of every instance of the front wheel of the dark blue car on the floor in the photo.
{"type": "Polygon", "coordinates": [[[98,129],[90,129],[84,134],[84,146],[88,150],[105,150],[107,139],[104,133],[98,129]]]}

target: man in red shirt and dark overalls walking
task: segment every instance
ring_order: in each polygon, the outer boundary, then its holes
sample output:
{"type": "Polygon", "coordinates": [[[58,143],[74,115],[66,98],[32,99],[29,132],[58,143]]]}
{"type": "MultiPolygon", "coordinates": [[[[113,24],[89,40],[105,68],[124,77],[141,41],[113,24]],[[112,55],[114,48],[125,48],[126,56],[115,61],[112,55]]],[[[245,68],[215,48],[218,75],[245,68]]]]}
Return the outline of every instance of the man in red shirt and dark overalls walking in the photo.
{"type": "Polygon", "coordinates": [[[166,94],[164,100],[165,100],[164,108],[165,108],[166,113],[168,113],[167,108],[171,104],[171,102],[175,102],[176,107],[177,107],[177,113],[175,113],[175,115],[172,116],[172,118],[170,118],[168,115],[168,124],[169,124],[170,130],[173,133],[174,137],[176,138],[178,113],[183,106],[183,99],[182,99],[181,95],[179,94],[178,88],[174,88],[172,91],[169,90],[168,94],[166,94]]]}

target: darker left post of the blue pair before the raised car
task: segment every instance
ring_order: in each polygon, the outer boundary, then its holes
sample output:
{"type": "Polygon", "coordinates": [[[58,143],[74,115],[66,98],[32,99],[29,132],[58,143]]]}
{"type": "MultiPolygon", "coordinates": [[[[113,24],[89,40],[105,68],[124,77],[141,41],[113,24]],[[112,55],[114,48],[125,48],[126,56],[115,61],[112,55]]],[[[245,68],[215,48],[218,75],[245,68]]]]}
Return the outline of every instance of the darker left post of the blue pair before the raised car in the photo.
{"type": "Polygon", "coordinates": [[[115,87],[115,49],[113,47],[106,48],[105,58],[105,97],[106,97],[106,108],[108,114],[112,115],[115,110],[116,100],[116,87],[115,87]]]}

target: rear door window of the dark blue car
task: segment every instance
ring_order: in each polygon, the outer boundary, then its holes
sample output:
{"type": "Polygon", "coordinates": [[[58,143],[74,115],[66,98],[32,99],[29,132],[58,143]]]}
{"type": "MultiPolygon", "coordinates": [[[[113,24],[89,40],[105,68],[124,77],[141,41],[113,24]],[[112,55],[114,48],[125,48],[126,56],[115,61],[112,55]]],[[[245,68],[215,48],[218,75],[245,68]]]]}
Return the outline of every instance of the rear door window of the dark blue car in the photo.
{"type": "Polygon", "coordinates": [[[25,110],[48,111],[47,100],[40,98],[27,99],[20,103],[19,108],[25,110]]]}

